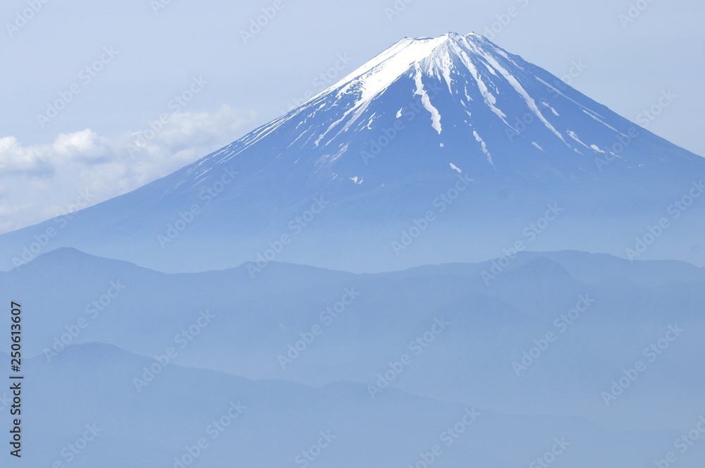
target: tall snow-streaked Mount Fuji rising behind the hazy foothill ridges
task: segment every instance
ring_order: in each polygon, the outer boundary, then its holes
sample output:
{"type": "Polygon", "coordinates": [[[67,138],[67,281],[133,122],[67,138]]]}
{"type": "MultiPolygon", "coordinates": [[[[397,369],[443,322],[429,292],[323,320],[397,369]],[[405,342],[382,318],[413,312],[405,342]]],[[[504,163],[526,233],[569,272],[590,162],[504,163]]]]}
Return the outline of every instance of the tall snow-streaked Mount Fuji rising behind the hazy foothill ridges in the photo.
{"type": "Polygon", "coordinates": [[[704,173],[485,37],[407,38],[169,176],[1,235],[0,267],[58,247],[161,271],[391,271],[524,249],[702,265],[704,173]]]}

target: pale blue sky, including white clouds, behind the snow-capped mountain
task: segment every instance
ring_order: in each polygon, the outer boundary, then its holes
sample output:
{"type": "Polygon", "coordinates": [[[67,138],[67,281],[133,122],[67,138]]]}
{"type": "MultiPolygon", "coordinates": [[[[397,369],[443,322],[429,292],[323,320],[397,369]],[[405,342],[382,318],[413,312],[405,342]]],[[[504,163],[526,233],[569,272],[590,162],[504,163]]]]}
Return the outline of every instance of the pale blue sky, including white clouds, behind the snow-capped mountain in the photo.
{"type": "Polygon", "coordinates": [[[237,139],[318,92],[338,56],[350,58],[342,78],[405,36],[486,34],[502,19],[494,42],[558,76],[580,61],[572,85],[632,121],[670,90],[677,97],[649,130],[705,155],[699,1],[633,2],[646,8],[623,24],[631,0],[398,0],[405,8],[391,18],[394,0],[280,0],[247,44],[240,31],[274,0],[161,0],[157,13],[159,0],[44,1],[0,7],[0,231],[54,216],[80,190],[92,190],[91,203],[132,190],[237,139]],[[18,21],[32,3],[38,11],[18,21]],[[84,70],[101,57],[102,70],[84,70]],[[80,92],[40,125],[73,83],[80,92]],[[192,85],[192,100],[171,101],[192,85]],[[126,151],[162,113],[164,131],[126,151]]]}

